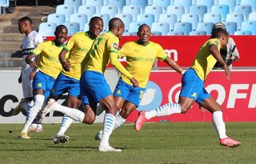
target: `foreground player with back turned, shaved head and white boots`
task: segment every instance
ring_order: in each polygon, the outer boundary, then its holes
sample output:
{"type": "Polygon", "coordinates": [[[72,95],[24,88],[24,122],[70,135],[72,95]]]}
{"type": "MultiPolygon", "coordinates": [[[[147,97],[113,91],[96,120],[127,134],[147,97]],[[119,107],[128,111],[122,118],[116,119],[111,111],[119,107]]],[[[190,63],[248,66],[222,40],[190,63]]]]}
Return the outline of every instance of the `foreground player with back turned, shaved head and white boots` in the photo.
{"type": "Polygon", "coordinates": [[[103,123],[102,141],[99,151],[122,151],[110,146],[109,138],[114,128],[115,114],[118,111],[114,105],[114,97],[110,86],[104,78],[106,66],[110,62],[121,74],[124,74],[134,86],[137,80],[118,61],[118,43],[124,31],[124,24],[120,18],[112,18],[109,31],[96,38],[92,48],[84,59],[84,70],[80,78],[80,92],[85,112],[61,106],[54,99],[50,99],[42,112],[42,117],[52,110],[60,111],[78,122],[92,124],[95,120],[97,103],[100,102],[106,110],[103,123]]]}

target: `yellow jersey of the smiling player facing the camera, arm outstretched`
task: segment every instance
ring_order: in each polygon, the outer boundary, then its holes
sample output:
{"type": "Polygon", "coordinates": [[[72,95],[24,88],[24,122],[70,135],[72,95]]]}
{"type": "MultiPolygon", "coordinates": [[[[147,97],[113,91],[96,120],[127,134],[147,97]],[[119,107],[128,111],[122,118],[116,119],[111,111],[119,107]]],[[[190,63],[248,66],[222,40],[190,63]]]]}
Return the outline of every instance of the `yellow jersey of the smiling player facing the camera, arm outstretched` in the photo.
{"type": "MultiPolygon", "coordinates": [[[[168,57],[158,43],[148,42],[142,45],[138,42],[126,42],[118,51],[119,57],[126,57],[126,70],[138,81],[142,88],[150,78],[150,71],[156,58],[164,60],[168,57]]],[[[130,85],[130,79],[122,74],[122,80],[130,85]]]]}

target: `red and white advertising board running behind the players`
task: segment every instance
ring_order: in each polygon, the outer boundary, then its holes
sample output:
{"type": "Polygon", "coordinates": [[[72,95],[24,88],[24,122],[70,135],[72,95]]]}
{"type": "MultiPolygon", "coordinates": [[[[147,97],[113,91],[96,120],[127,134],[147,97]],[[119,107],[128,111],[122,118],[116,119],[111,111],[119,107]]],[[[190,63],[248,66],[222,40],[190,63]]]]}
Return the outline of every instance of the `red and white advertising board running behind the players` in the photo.
{"type": "MultiPolygon", "coordinates": [[[[26,112],[12,116],[11,108],[18,105],[22,98],[22,86],[18,84],[18,70],[1,70],[0,78],[0,123],[24,123],[26,112]]],[[[106,71],[106,80],[111,90],[118,82],[115,70],[106,71]]],[[[138,110],[153,110],[167,102],[178,102],[182,76],[173,70],[152,71],[146,93],[138,110]]],[[[214,70],[206,79],[206,90],[223,107],[223,118],[226,122],[256,122],[256,70],[231,70],[231,78],[227,80],[223,70],[214,70]]],[[[65,98],[65,96],[63,97],[65,98]]],[[[60,102],[63,102],[61,100],[60,102]]],[[[62,114],[51,113],[43,122],[61,122],[62,114]]],[[[127,119],[134,122],[138,111],[127,119]]],[[[102,122],[101,114],[96,122],[102,122]]],[[[210,122],[210,112],[201,113],[195,103],[187,114],[174,114],[168,117],[153,118],[151,121],[168,120],[171,122],[210,122]]]]}

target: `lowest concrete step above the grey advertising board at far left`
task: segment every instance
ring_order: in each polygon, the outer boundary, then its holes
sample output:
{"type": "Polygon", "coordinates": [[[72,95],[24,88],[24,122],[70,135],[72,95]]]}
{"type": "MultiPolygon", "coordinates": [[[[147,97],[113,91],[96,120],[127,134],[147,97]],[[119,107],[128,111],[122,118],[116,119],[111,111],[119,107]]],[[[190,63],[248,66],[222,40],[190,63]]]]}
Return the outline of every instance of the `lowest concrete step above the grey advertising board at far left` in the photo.
{"type": "Polygon", "coordinates": [[[0,67],[22,67],[22,58],[0,58],[0,67]]]}

